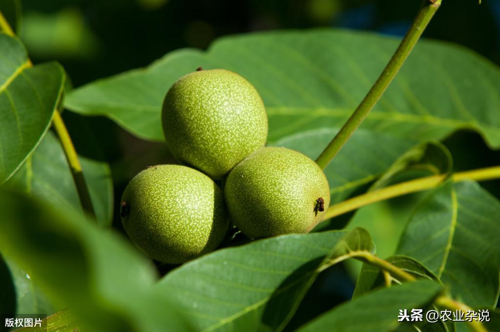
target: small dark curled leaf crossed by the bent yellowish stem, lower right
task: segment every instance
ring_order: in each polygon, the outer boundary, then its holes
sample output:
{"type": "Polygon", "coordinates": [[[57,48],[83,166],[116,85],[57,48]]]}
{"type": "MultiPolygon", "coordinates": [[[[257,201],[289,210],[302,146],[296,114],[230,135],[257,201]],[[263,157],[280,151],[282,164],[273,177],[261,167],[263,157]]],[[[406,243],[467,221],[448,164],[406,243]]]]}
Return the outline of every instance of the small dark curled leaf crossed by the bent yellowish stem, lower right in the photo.
{"type": "MultiPolygon", "coordinates": [[[[405,272],[412,274],[417,278],[426,278],[439,283],[437,276],[432,273],[427,267],[420,264],[416,259],[403,256],[403,255],[393,255],[386,258],[389,263],[399,267],[405,272]]],[[[402,283],[403,280],[397,280],[394,276],[391,277],[391,283],[402,283]]],[[[368,263],[363,263],[359,277],[357,278],[356,288],[354,289],[354,294],[352,298],[356,298],[364,295],[365,293],[371,291],[374,288],[384,286],[384,276],[380,269],[368,263]]]]}

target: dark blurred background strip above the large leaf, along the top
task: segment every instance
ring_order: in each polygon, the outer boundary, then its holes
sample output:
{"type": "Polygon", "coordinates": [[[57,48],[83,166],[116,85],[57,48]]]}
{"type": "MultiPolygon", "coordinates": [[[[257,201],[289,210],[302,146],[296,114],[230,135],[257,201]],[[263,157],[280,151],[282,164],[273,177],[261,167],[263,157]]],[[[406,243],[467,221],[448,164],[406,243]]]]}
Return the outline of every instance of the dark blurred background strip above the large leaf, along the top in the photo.
{"type": "MultiPolygon", "coordinates": [[[[443,1],[425,36],[500,61],[500,0],[443,1]]],[[[21,39],[57,59],[75,86],[144,66],[180,47],[268,29],[344,27],[402,35],[419,0],[23,0],[21,39]]]]}

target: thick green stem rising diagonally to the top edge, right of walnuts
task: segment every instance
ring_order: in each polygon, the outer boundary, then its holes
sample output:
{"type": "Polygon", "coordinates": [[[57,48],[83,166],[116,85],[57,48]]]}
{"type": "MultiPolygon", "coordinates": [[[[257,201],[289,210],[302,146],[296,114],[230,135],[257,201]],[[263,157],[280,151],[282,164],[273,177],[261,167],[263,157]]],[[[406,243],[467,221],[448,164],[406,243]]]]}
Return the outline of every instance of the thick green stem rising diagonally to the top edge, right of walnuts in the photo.
{"type": "Polygon", "coordinates": [[[368,115],[368,112],[373,108],[375,103],[381,97],[382,93],[401,68],[404,60],[408,57],[408,54],[413,49],[413,46],[440,4],[441,0],[424,0],[423,6],[420,8],[418,14],[413,20],[413,23],[406,32],[406,35],[401,40],[401,43],[394,52],[394,55],[390,58],[389,63],[387,63],[376,82],[368,91],[368,94],[366,94],[359,106],[357,106],[347,122],[345,122],[328,146],[326,146],[323,152],[321,152],[321,154],[317,157],[316,163],[319,167],[324,168],[328,165],[331,159],[337,154],[352,133],[357,129],[359,124],[361,124],[366,115],[368,115]]]}

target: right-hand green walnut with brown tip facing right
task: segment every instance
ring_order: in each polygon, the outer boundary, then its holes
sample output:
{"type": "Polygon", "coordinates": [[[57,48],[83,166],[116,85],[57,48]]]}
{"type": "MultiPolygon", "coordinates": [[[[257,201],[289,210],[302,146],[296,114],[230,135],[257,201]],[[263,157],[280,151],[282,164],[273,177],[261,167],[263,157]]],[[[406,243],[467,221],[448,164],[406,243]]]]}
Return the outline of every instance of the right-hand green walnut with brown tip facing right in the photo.
{"type": "Polygon", "coordinates": [[[229,173],[224,196],[231,221],[248,237],[306,233],[330,202],[328,181],[307,156],[264,147],[229,173]]]}

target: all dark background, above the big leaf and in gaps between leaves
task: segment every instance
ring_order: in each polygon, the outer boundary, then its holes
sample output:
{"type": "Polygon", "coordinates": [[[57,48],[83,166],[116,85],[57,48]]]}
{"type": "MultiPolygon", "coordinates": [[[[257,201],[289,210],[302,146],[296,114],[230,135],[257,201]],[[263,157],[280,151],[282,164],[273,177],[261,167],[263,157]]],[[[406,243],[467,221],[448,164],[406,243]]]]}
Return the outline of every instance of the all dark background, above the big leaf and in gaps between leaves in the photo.
{"type": "MultiPolygon", "coordinates": [[[[20,36],[33,62],[58,60],[73,86],[141,67],[180,47],[206,49],[227,34],[268,29],[343,27],[402,35],[420,0],[24,0],[20,36]]],[[[500,0],[443,0],[424,36],[456,42],[500,63],[500,0]]],[[[64,112],[80,154],[111,165],[115,218],[128,180],[147,165],[172,161],[164,144],[141,141],[103,117],[64,112]],[[82,130],[82,128],[86,128],[82,130]],[[91,132],[91,133],[89,133],[91,132]],[[95,144],[89,143],[89,134],[95,144]]],[[[472,131],[445,140],[456,170],[500,163],[472,131]]],[[[500,182],[484,186],[500,197],[500,182]]],[[[159,268],[165,272],[170,266],[159,268]]],[[[290,328],[350,298],[341,265],[321,273],[290,328]]]]}

